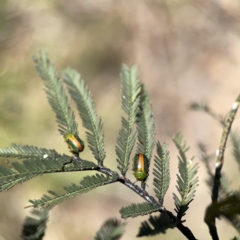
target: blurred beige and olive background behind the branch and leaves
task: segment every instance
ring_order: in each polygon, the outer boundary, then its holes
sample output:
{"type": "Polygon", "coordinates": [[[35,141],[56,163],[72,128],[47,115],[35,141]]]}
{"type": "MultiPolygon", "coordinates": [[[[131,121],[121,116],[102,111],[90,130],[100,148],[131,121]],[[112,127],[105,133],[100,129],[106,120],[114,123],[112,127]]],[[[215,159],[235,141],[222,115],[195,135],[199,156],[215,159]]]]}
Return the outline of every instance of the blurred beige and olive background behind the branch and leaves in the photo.
{"type": "MultiPolygon", "coordinates": [[[[137,64],[140,79],[151,96],[156,139],[169,144],[171,185],[164,206],[174,211],[177,151],[168,133],[181,132],[189,157],[199,162],[199,187],[185,216],[196,238],[211,239],[203,222],[210,190],[197,143],[214,153],[220,143],[220,125],[204,113],[189,111],[190,101],[204,100],[226,114],[239,94],[240,3],[237,0],[1,0],[0,1],[0,148],[12,142],[69,153],[57,131],[42,83],[31,60],[46,50],[57,69],[71,66],[85,79],[102,117],[106,166],[116,169],[115,142],[120,127],[122,63],[137,64]]],[[[84,129],[79,121],[81,138],[84,129]]],[[[237,117],[234,128],[239,127],[237,117]]],[[[232,189],[239,188],[239,172],[227,146],[223,171],[232,189]]],[[[81,155],[93,160],[88,148],[81,155]]],[[[1,160],[2,162],[5,159],[1,160]]],[[[94,161],[94,160],[93,160],[94,161]]],[[[211,164],[214,169],[214,161],[211,164]]],[[[37,177],[1,193],[0,239],[20,239],[29,199],[48,189],[78,183],[86,173],[56,173],[37,177]]],[[[131,170],[128,175],[134,180],[131,170]]],[[[152,178],[148,182],[152,191],[152,178]]],[[[121,184],[101,187],[55,207],[45,239],[92,239],[109,217],[120,218],[122,206],[143,202],[121,184]]],[[[136,239],[140,222],[128,219],[122,239],[136,239]]],[[[230,239],[237,232],[224,219],[217,221],[219,235],[230,239]]],[[[142,239],[185,239],[177,230],[142,239]]]]}

